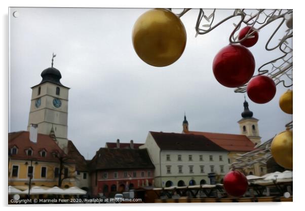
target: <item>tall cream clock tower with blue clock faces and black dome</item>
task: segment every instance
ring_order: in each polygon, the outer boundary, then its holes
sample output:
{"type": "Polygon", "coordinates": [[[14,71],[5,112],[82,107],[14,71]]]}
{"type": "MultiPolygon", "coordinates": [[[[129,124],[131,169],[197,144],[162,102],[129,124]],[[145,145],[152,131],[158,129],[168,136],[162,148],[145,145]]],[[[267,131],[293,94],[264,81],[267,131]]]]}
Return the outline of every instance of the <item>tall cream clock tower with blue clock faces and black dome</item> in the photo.
{"type": "Polygon", "coordinates": [[[51,135],[58,146],[66,152],[68,145],[68,92],[69,88],[60,83],[61,74],[52,66],[45,69],[42,81],[31,87],[31,105],[27,130],[37,124],[37,132],[51,135]]]}

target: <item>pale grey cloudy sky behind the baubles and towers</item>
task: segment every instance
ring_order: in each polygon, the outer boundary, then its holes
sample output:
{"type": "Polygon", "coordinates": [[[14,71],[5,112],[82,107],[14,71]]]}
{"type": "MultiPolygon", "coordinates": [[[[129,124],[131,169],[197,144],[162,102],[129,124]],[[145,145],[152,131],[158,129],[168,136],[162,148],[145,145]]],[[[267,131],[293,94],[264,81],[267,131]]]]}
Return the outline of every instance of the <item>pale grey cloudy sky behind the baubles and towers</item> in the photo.
{"type": "MultiPolygon", "coordinates": [[[[10,10],[10,131],[26,130],[30,87],[41,82],[41,72],[51,66],[70,87],[68,138],[91,159],[105,142],[144,143],[148,131],[181,132],[184,112],[189,129],[239,134],[238,120],[244,94],[220,85],[213,76],[215,54],[228,44],[233,18],[195,38],[198,10],[181,17],[187,32],[183,55],[172,65],[154,67],[135,53],[132,27],[147,9],[11,8],[10,10]],[[18,11],[18,18],[12,13],[18,11]]],[[[180,12],[181,10],[174,10],[180,12]]],[[[208,14],[211,11],[207,11],[208,14]]],[[[215,22],[233,10],[216,11],[215,22]]],[[[280,21],[259,32],[250,48],[257,68],[281,56],[264,50],[280,21]]],[[[278,37],[286,30],[283,25],[278,37]]],[[[255,73],[255,74],[256,74],[255,73]]],[[[287,88],[266,104],[251,100],[249,108],[259,119],[262,141],[285,129],[292,116],[278,101],[287,88]]]]}

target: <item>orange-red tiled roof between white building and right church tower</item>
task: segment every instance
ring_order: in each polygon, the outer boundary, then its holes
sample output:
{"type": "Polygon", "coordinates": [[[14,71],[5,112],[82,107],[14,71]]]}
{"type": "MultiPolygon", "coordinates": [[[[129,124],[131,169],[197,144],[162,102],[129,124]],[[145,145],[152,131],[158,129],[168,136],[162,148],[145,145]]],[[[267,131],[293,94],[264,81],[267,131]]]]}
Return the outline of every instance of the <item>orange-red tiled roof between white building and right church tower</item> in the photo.
{"type": "Polygon", "coordinates": [[[188,131],[188,134],[203,135],[215,144],[231,152],[250,152],[254,150],[254,144],[245,135],[188,131]]]}

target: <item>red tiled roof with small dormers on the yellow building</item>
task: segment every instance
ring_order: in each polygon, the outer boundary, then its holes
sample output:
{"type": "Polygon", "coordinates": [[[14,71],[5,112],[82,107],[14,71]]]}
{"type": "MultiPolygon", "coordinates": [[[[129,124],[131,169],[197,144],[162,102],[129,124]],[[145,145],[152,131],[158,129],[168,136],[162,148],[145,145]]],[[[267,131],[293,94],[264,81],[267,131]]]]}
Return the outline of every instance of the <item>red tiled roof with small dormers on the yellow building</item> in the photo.
{"type": "MultiPolygon", "coordinates": [[[[37,134],[37,143],[33,143],[29,139],[28,131],[19,131],[9,133],[9,152],[12,147],[16,146],[18,148],[17,155],[9,155],[10,158],[23,159],[23,160],[41,160],[58,162],[58,158],[52,155],[52,152],[57,152],[61,156],[65,153],[60,149],[56,142],[49,136],[45,134],[37,134]],[[28,156],[25,150],[31,148],[33,150],[32,156],[28,156]],[[40,155],[40,151],[45,149],[47,151],[46,157],[40,155]]],[[[69,160],[72,161],[72,160],[69,160]]]]}

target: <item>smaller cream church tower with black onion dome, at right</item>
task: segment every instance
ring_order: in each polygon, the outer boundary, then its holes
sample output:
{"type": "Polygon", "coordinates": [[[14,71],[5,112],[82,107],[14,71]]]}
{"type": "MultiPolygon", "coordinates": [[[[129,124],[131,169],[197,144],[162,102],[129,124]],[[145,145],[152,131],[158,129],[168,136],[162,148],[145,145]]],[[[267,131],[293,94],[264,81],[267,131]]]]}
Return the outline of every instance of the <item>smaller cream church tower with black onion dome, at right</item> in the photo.
{"type": "Polygon", "coordinates": [[[249,104],[245,98],[242,119],[238,121],[238,124],[240,133],[246,135],[255,145],[261,142],[257,122],[258,119],[253,118],[253,112],[249,110],[249,104]]]}

